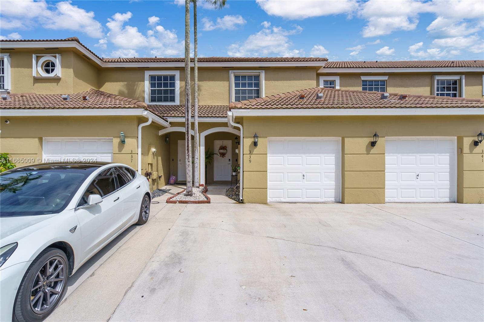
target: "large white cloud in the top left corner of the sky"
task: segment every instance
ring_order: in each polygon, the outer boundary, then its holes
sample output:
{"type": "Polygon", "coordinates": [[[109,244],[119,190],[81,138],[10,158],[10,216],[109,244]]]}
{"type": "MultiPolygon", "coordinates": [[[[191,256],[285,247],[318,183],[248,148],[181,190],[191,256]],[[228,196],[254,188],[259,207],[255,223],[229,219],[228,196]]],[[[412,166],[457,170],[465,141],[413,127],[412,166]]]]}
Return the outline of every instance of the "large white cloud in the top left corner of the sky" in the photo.
{"type": "Polygon", "coordinates": [[[47,5],[45,1],[2,1],[2,29],[46,28],[83,32],[92,38],[103,37],[101,23],[94,12],[60,1],[47,5]]]}

